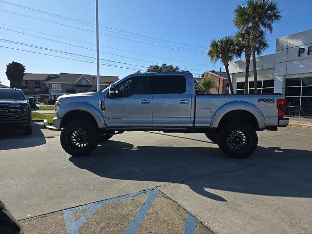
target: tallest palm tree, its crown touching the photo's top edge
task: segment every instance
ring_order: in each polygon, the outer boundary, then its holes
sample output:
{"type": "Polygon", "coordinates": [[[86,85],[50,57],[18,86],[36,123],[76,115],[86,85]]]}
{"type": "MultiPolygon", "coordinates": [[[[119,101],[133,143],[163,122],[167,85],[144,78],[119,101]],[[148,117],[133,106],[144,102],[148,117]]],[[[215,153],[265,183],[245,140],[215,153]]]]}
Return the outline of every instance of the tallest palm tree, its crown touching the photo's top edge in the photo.
{"type": "Polygon", "coordinates": [[[250,30],[250,44],[252,47],[253,66],[254,66],[254,93],[258,93],[257,70],[256,70],[256,45],[260,37],[261,30],[273,31],[272,24],[282,18],[281,11],[278,9],[274,0],[247,0],[244,4],[238,5],[235,9],[234,24],[240,30],[248,28],[250,30]]]}

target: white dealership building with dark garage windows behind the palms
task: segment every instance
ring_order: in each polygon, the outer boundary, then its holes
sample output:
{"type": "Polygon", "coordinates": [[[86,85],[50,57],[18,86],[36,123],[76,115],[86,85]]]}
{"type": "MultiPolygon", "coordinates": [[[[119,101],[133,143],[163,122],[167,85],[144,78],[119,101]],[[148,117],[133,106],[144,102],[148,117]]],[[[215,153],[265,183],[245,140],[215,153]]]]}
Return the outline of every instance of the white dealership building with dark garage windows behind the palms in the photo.
{"type": "MultiPolygon", "coordinates": [[[[275,54],[256,58],[258,93],[282,93],[287,105],[312,108],[312,30],[276,39],[275,54]]],[[[244,93],[244,60],[230,63],[235,93],[244,93]]],[[[250,63],[249,93],[254,93],[253,61],[250,63]]]]}

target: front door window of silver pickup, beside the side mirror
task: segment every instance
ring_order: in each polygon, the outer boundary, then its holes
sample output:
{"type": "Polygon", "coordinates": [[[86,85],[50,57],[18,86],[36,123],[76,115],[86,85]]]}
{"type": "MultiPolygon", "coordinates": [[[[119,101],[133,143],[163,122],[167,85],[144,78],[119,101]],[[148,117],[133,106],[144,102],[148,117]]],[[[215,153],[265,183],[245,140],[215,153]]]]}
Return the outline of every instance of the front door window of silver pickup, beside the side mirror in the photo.
{"type": "Polygon", "coordinates": [[[131,77],[125,81],[117,84],[119,98],[127,98],[135,94],[147,94],[148,91],[148,77],[139,76],[131,77]]]}

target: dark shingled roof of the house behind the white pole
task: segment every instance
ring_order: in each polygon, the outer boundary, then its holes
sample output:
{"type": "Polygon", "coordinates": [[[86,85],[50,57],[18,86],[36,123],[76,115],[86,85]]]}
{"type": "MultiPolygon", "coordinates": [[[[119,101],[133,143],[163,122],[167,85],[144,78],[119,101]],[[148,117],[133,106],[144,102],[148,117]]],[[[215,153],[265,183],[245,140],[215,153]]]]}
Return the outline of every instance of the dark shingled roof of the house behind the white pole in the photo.
{"type": "MultiPolygon", "coordinates": [[[[78,79],[84,76],[92,84],[97,84],[97,76],[86,75],[86,74],[71,74],[71,73],[60,73],[59,78],[49,79],[46,81],[53,83],[76,83],[78,79]]],[[[113,83],[118,80],[118,77],[115,76],[100,76],[100,84],[113,83]]]]}

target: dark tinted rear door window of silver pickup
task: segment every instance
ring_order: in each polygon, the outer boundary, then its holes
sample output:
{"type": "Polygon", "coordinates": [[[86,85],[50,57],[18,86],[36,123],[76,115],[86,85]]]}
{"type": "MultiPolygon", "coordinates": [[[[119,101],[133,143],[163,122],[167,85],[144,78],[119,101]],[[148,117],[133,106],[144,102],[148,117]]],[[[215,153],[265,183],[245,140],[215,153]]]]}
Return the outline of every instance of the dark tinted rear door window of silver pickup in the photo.
{"type": "Polygon", "coordinates": [[[151,76],[150,93],[152,94],[183,94],[186,92],[184,76],[151,76]]]}

